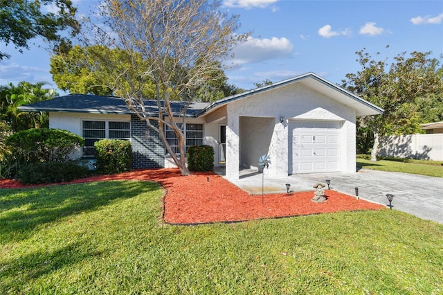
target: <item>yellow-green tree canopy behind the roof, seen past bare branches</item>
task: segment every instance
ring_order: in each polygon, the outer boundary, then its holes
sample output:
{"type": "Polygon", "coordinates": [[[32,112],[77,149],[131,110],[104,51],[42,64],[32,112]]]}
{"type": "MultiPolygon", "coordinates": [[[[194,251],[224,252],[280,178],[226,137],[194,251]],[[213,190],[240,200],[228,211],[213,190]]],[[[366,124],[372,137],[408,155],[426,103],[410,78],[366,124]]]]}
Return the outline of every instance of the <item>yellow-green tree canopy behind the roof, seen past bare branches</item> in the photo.
{"type": "MultiPolygon", "coordinates": [[[[114,85],[111,75],[106,72],[97,71],[99,62],[111,62],[119,72],[125,71],[127,80],[136,81],[139,73],[131,71],[132,62],[136,62],[140,69],[146,68],[146,61],[141,54],[129,55],[121,48],[107,48],[102,45],[82,47],[80,45],[73,48],[64,48],[64,51],[51,57],[51,73],[58,88],[71,93],[96,94],[96,95],[116,95],[121,96],[123,85],[114,85]],[[97,53],[100,52],[100,55],[97,53]],[[106,53],[107,60],[100,57],[106,53]],[[132,76],[130,76],[132,75],[132,76]],[[111,86],[109,86],[111,85],[111,86]]],[[[228,84],[228,78],[221,69],[221,64],[217,63],[213,72],[208,73],[209,79],[204,84],[193,91],[183,94],[182,97],[193,97],[199,101],[214,101],[219,98],[231,96],[237,93],[237,87],[228,84]]],[[[182,69],[181,71],[185,71],[182,69]]],[[[145,98],[156,97],[156,87],[152,80],[144,80],[142,94],[145,98]]],[[[130,87],[127,82],[125,89],[130,87]]],[[[129,89],[128,89],[129,90],[129,89]]]]}

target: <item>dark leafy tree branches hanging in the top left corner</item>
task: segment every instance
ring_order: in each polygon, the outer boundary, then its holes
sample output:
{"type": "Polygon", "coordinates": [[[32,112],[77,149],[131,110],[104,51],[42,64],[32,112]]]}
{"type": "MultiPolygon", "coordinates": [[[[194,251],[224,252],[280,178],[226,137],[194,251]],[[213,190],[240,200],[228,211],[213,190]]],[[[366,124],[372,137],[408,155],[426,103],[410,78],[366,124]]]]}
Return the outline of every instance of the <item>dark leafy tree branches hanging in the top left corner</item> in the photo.
{"type": "MultiPolygon", "coordinates": [[[[0,0],[0,41],[12,43],[19,51],[29,48],[30,39],[42,37],[44,41],[60,45],[69,42],[80,28],[75,20],[77,8],[71,0],[0,0]],[[54,5],[58,12],[43,12],[43,6],[54,5]],[[62,31],[70,35],[63,37],[62,31]]],[[[0,51],[0,60],[10,56],[0,51]]]]}

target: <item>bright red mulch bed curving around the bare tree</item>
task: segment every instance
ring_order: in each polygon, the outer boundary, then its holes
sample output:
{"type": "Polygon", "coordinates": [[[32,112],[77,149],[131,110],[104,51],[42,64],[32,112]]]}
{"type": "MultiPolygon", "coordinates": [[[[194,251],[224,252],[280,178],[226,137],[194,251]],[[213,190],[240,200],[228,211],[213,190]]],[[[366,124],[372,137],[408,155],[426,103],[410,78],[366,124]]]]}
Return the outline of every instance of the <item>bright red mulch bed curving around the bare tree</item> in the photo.
{"type": "MultiPolygon", "coordinates": [[[[289,217],[338,211],[379,210],[386,208],[350,195],[326,190],[327,201],[311,202],[314,190],[287,195],[248,195],[213,172],[182,177],[178,169],[136,170],[118,175],[100,175],[69,182],[106,180],[158,181],[167,190],[164,220],[169,224],[239,222],[273,217],[289,217]],[[209,181],[208,181],[209,180],[209,181]]],[[[0,179],[0,188],[30,188],[17,181],[0,179]]]]}

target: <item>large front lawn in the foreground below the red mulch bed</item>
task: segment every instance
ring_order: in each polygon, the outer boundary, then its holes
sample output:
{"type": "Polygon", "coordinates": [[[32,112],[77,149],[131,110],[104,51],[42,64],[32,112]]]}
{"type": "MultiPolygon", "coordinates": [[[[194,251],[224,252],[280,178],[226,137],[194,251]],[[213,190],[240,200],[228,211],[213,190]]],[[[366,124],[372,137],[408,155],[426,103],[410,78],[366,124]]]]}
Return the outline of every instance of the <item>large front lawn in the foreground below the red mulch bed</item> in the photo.
{"type": "Polygon", "coordinates": [[[163,190],[0,190],[0,294],[441,294],[443,226],[359,211],[170,226],[163,190]]]}

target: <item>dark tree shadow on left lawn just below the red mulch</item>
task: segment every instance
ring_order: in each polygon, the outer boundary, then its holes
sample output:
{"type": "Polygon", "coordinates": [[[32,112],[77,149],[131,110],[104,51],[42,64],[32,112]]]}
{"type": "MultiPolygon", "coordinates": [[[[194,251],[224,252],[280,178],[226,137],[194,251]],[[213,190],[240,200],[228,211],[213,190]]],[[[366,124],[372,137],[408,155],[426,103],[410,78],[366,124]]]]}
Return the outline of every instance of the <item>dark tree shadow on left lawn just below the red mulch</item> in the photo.
{"type": "Polygon", "coordinates": [[[3,190],[0,193],[0,242],[24,240],[33,234],[36,226],[156,189],[158,184],[152,182],[100,181],[3,190]]]}

